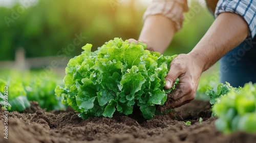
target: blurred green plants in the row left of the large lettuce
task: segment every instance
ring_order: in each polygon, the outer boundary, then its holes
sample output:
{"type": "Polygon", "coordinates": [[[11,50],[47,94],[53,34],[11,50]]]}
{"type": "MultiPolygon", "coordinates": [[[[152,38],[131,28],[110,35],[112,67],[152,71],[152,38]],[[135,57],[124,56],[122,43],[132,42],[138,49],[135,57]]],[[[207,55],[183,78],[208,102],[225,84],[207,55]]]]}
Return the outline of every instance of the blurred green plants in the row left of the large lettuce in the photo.
{"type": "Polygon", "coordinates": [[[66,106],[61,103],[61,98],[55,96],[54,89],[62,84],[61,76],[55,72],[51,74],[44,70],[0,70],[0,104],[3,104],[4,85],[8,85],[8,102],[10,111],[23,111],[30,107],[29,101],[37,101],[41,108],[49,110],[62,110],[66,106]],[[1,99],[2,98],[2,99],[1,99]]]}

